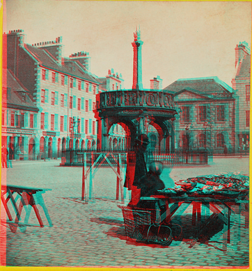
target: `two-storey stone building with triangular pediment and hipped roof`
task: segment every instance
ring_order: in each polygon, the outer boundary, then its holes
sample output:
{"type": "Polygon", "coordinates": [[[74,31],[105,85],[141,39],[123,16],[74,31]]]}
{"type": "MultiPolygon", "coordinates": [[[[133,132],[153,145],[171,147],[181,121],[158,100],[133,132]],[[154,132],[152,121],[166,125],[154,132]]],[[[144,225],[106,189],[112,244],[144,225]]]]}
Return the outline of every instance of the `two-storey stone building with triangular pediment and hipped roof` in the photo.
{"type": "Polygon", "coordinates": [[[218,77],[178,79],[164,88],[181,109],[174,122],[175,149],[235,150],[233,88],[218,77]]]}

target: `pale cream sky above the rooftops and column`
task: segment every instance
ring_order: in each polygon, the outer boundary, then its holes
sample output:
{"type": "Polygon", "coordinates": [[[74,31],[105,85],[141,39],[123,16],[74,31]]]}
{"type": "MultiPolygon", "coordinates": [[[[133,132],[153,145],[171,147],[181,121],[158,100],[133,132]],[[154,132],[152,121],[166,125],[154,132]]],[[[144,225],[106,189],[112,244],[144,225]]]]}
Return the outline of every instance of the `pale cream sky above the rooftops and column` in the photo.
{"type": "Polygon", "coordinates": [[[63,38],[63,54],[87,51],[93,74],[123,75],[132,88],[134,31],[141,28],[143,88],[159,75],[218,76],[232,86],[235,47],[251,47],[251,3],[215,1],[6,0],[3,31],[24,30],[26,43],[63,38]]]}

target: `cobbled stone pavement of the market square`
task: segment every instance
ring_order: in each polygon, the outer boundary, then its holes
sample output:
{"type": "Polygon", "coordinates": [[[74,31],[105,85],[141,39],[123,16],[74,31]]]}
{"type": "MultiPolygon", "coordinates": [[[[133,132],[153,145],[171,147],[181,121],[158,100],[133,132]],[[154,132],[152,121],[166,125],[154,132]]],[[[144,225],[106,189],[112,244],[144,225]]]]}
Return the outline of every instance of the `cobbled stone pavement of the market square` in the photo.
{"type": "MultiPolygon", "coordinates": [[[[215,158],[214,163],[198,167],[165,168],[162,179],[166,186],[200,174],[241,172],[249,174],[249,158],[215,158]],[[171,179],[168,172],[171,171],[171,179]]],[[[53,227],[40,214],[46,227],[40,228],[34,213],[23,233],[22,227],[12,233],[6,225],[6,265],[8,266],[69,266],[69,267],[245,267],[249,265],[249,229],[244,215],[231,215],[230,243],[222,250],[222,230],[208,243],[182,239],[169,247],[136,243],[125,236],[123,215],[116,201],[116,175],[102,167],[94,181],[95,199],[81,202],[81,167],[59,167],[60,161],[15,162],[2,171],[13,185],[51,188],[43,194],[53,227]]],[[[1,210],[2,210],[1,206],[1,210]]],[[[178,216],[178,223],[191,223],[190,209],[178,216]],[[187,217],[189,217],[187,219],[187,217]]],[[[3,213],[3,212],[2,212],[3,213]]],[[[24,214],[22,214],[24,215],[24,214]]],[[[24,222],[24,216],[22,216],[24,222]]],[[[3,227],[3,224],[1,225],[3,227]]],[[[1,236],[3,238],[3,236],[1,236]]],[[[1,249],[1,254],[3,254],[1,249]]]]}

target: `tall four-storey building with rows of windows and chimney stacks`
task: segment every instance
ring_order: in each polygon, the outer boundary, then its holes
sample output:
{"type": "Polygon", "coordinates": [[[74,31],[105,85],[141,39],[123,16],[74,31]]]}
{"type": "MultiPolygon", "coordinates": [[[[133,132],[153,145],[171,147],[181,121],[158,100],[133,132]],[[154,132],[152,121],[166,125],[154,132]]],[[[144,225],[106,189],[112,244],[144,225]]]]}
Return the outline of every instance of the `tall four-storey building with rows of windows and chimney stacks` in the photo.
{"type": "Polygon", "coordinates": [[[22,30],[3,35],[7,67],[24,85],[39,109],[35,152],[49,158],[61,150],[96,146],[95,95],[99,83],[88,72],[86,52],[63,56],[62,38],[26,44],[22,30]]]}

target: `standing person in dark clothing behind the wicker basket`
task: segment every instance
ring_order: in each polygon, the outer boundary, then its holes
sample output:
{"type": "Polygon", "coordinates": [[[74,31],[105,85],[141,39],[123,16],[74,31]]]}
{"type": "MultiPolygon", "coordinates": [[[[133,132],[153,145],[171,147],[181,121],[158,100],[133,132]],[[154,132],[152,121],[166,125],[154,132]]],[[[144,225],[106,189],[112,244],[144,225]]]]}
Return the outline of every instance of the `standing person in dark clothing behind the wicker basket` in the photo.
{"type": "Polygon", "coordinates": [[[134,142],[134,151],[127,156],[127,170],[124,187],[132,191],[129,206],[136,206],[140,199],[139,179],[147,173],[144,154],[148,148],[148,136],[144,133],[139,135],[134,142]]]}

